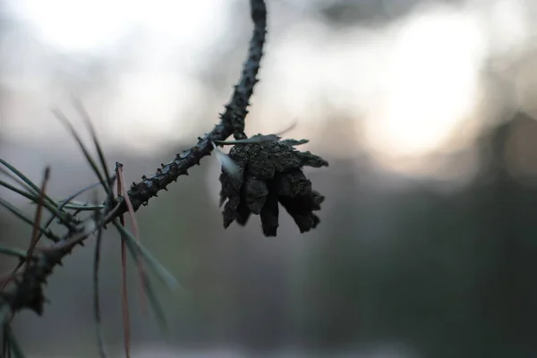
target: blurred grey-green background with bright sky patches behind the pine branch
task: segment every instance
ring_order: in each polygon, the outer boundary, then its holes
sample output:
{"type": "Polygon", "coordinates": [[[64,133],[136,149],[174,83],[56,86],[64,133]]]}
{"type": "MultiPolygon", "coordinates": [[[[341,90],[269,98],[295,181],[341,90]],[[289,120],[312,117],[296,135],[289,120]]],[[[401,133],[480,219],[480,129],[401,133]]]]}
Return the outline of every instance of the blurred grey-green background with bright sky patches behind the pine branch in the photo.
{"type": "MultiPolygon", "coordinates": [[[[268,1],[247,133],[296,122],[286,137],[329,161],[306,169],[327,197],[321,224],[300,234],[282,214],[276,238],[259,217],[224,230],[219,164],[203,159],[137,213],[187,294],[156,282],[163,336],[130,265],[132,356],[537,356],[535,16],[532,0],[268,1]]],[[[52,166],[54,198],[95,183],[49,110],[90,144],[75,94],[109,163],[139,181],[217,123],[250,37],[245,0],[3,0],[1,156],[38,183],[52,166]]],[[[0,242],[27,247],[30,226],[5,209],[0,223],[0,242]]],[[[94,243],[50,277],[43,317],[16,316],[30,357],[98,355],[94,243]]],[[[103,245],[104,334],[119,357],[114,230],[103,245]]]]}

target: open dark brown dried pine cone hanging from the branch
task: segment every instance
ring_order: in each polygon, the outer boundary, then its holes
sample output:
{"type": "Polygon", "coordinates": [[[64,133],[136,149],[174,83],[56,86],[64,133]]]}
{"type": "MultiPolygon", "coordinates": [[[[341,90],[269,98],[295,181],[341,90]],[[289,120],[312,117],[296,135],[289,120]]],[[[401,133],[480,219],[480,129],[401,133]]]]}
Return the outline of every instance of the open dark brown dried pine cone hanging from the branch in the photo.
{"type": "Polygon", "coordinates": [[[220,205],[227,200],[222,213],[224,227],[233,221],[243,226],[253,213],[261,217],[263,234],[276,236],[279,202],[301,233],[310,231],[320,222],[312,211],[320,210],[324,197],[311,190],[302,167],[328,166],[328,162],[309,151],[294,149],[294,145],[306,141],[262,138],[260,134],[253,136],[247,143],[235,144],[229,152],[238,171],[230,174],[223,169],[220,175],[220,205]]]}

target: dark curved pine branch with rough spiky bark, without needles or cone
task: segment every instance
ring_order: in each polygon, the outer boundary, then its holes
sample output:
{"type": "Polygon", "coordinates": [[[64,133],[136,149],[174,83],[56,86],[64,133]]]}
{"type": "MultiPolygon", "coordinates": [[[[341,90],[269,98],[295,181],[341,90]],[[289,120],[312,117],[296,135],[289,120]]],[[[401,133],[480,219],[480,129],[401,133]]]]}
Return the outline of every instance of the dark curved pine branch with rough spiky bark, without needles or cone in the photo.
{"type": "MultiPolygon", "coordinates": [[[[251,0],[250,5],[254,28],[248,57],[243,64],[241,78],[234,86],[233,95],[226,104],[226,110],[220,115],[220,122],[212,131],[200,137],[191,149],[177,154],[171,163],[161,165],[153,175],[142,176],[140,183],[132,183],[128,196],[134,210],[139,209],[141,205],[147,205],[149,199],[156,197],[161,190],[166,190],[166,186],[175,182],[180,175],[188,175],[188,169],[199,165],[200,159],[210,154],[212,141],[225,141],[231,135],[234,135],[236,140],[246,138],[244,119],[248,114],[247,107],[253,87],[258,81],[257,74],[260,69],[267,25],[265,2],[251,0]]],[[[125,199],[121,197],[115,202],[108,200],[106,208],[104,215],[101,216],[102,220],[97,222],[95,217],[90,217],[78,223],[74,229],[69,230],[68,234],[47,250],[35,252],[24,274],[15,281],[13,288],[0,294],[0,303],[3,301],[8,303],[13,313],[29,309],[41,315],[45,302],[43,285],[55,266],[61,265],[65,255],[69,254],[78,243],[83,243],[98,227],[113,222],[127,211],[125,199]]]]}

